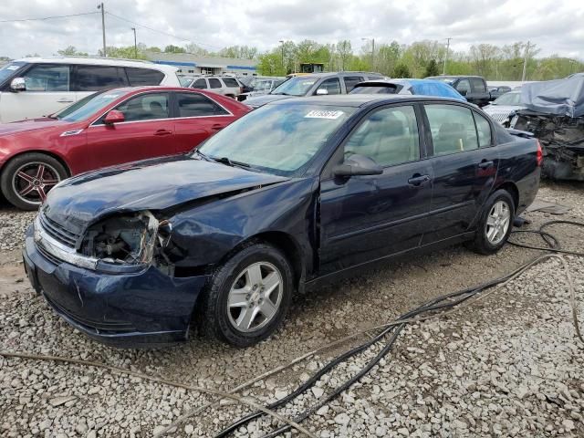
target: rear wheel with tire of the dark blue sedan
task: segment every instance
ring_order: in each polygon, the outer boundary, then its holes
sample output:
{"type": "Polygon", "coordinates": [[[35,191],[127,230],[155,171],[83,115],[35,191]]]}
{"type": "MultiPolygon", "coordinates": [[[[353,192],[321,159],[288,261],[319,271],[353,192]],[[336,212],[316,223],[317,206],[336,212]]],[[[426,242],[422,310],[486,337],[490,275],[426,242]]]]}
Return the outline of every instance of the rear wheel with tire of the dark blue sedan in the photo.
{"type": "Polygon", "coordinates": [[[470,249],[478,254],[495,254],[505,244],[515,219],[515,203],[506,190],[492,193],[477,225],[474,240],[468,243],[470,249]]]}

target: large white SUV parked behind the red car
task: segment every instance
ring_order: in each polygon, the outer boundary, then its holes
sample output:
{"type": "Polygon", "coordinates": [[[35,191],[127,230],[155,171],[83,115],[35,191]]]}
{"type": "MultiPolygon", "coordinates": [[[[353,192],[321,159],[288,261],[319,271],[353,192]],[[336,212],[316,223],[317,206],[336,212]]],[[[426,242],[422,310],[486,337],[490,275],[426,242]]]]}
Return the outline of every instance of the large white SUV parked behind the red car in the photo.
{"type": "Polygon", "coordinates": [[[102,89],[180,87],[176,68],[104,57],[29,57],[0,68],[0,123],[36,119],[102,89]]]}

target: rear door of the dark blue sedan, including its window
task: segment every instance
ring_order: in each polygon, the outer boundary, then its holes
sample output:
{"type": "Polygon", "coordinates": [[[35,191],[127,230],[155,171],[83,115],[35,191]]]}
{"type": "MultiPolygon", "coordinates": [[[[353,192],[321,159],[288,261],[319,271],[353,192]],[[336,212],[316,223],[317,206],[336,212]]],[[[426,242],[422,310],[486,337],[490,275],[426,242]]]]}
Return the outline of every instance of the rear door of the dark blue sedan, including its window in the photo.
{"type": "Polygon", "coordinates": [[[493,188],[499,156],[491,124],[478,112],[444,103],[424,110],[434,184],[428,244],[469,230],[493,188]]]}

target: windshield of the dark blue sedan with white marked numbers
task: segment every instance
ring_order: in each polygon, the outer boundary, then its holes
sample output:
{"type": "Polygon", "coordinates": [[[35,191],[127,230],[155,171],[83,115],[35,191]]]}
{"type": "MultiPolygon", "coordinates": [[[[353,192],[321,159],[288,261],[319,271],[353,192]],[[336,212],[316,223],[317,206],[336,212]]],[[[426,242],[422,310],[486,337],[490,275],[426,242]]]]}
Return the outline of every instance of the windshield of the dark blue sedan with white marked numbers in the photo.
{"type": "Polygon", "coordinates": [[[354,112],[350,107],[266,105],[221,130],[199,151],[252,170],[290,176],[314,158],[328,138],[354,112]]]}

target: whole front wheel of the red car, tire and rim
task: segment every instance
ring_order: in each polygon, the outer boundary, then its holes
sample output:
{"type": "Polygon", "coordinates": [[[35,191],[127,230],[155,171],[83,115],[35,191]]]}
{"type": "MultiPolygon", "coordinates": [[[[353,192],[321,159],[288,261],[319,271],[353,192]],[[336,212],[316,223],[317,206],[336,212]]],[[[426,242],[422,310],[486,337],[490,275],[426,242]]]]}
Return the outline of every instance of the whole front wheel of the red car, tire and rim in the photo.
{"type": "Polygon", "coordinates": [[[44,153],[25,153],[5,165],[0,185],[8,202],[22,210],[36,210],[47,193],[67,177],[57,159],[44,153]]]}

